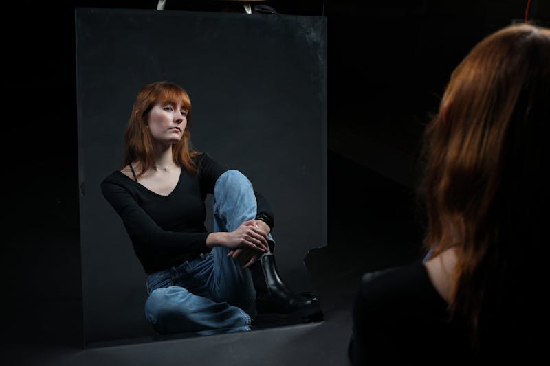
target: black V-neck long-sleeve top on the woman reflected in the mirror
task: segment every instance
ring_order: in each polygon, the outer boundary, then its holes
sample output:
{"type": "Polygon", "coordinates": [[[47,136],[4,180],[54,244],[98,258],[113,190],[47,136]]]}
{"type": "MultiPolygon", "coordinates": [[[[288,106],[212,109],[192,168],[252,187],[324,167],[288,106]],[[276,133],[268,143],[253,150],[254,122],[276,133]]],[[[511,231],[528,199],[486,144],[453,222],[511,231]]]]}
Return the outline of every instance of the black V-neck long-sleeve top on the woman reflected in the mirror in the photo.
{"type": "MultiPolygon", "coordinates": [[[[104,197],[118,213],[129,234],[133,249],[144,271],[151,274],[186,260],[197,258],[206,247],[205,200],[214,193],[217,179],[228,168],[208,154],[195,157],[197,173],[181,168],[174,190],[162,196],[129,178],[120,171],[101,183],[104,197]]],[[[274,214],[268,201],[256,190],[258,218],[263,215],[274,225],[274,214]]]]}

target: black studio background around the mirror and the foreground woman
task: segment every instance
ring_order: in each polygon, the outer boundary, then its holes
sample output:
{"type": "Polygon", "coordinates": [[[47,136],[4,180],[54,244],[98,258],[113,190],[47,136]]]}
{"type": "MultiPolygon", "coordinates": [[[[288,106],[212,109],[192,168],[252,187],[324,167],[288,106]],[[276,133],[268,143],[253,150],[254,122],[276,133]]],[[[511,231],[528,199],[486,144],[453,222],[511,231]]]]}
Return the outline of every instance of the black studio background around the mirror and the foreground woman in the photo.
{"type": "MultiPolygon", "coordinates": [[[[293,347],[320,352],[328,365],[342,360],[349,328],[331,322],[349,309],[358,275],[421,254],[414,192],[421,131],[450,71],[481,38],[522,21],[528,1],[264,3],[283,15],[327,17],[328,245],[307,264],[332,333],[327,343],[293,347]],[[336,330],[343,340],[332,351],[336,330]]],[[[529,19],[548,25],[549,3],[531,1],[529,19]]],[[[14,343],[23,345],[21,357],[29,353],[25,345],[83,343],[74,7],[156,5],[18,1],[3,10],[5,352],[17,349],[14,343]]],[[[221,5],[168,0],[166,10],[222,11],[221,5]]]]}

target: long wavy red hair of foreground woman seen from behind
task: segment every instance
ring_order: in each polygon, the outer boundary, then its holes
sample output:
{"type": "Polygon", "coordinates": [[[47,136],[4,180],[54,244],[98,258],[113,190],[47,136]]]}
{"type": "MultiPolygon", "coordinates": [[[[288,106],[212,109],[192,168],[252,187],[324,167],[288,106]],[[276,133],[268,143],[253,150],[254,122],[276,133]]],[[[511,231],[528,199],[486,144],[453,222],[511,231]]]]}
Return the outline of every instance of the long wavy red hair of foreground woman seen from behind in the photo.
{"type": "Polygon", "coordinates": [[[426,128],[425,244],[459,249],[450,308],[480,339],[498,309],[526,305],[541,271],[531,265],[543,249],[549,105],[550,30],[511,25],[454,69],[426,128]]]}

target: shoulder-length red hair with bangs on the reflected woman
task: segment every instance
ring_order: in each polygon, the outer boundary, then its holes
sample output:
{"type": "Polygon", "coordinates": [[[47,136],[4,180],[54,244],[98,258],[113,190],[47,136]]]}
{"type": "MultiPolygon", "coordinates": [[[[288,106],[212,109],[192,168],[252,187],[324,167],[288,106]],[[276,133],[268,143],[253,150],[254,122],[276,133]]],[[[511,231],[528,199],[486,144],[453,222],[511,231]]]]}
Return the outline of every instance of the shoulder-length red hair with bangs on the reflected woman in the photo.
{"type": "Polygon", "coordinates": [[[193,157],[197,151],[191,144],[191,100],[185,89],[171,82],[153,82],[144,86],[133,102],[132,113],[126,126],[124,149],[124,166],[134,161],[140,161],[142,169],[138,176],[144,174],[153,165],[153,141],[147,128],[148,114],[155,104],[167,102],[181,103],[187,109],[187,126],[184,135],[177,144],[172,146],[172,155],[175,163],[184,166],[188,171],[195,174],[197,166],[193,157]]]}

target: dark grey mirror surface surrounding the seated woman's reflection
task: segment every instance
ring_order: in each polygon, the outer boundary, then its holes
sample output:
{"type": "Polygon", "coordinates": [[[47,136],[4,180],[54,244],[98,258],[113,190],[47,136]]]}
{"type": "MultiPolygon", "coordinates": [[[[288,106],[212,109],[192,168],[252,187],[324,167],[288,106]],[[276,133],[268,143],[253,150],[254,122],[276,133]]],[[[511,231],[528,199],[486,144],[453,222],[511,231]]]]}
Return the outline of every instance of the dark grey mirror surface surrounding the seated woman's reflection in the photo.
{"type": "Polygon", "coordinates": [[[150,82],[188,91],[193,144],[270,201],[281,277],[296,293],[315,290],[304,258],[327,243],[326,19],[104,8],[75,16],[85,343],[154,339],[146,274],[100,190],[121,168],[133,99],[150,82]]]}

